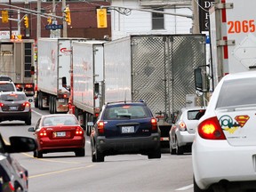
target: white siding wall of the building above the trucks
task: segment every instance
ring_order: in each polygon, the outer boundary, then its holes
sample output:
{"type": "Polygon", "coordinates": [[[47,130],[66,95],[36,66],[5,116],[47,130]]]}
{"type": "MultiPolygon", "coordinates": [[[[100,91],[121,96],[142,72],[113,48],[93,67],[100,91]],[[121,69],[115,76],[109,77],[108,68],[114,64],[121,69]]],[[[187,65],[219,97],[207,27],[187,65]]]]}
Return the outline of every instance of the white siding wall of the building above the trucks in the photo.
{"type": "MultiPolygon", "coordinates": [[[[138,0],[112,0],[112,6],[142,9],[138,0]]],[[[123,9],[124,10],[124,9],[123,9]]],[[[122,10],[121,10],[122,11],[122,10]]],[[[164,12],[192,15],[189,8],[164,9],[164,12]]],[[[129,15],[111,11],[112,40],[137,34],[189,34],[192,19],[164,14],[164,29],[152,30],[152,13],[132,10],[129,15]]]]}

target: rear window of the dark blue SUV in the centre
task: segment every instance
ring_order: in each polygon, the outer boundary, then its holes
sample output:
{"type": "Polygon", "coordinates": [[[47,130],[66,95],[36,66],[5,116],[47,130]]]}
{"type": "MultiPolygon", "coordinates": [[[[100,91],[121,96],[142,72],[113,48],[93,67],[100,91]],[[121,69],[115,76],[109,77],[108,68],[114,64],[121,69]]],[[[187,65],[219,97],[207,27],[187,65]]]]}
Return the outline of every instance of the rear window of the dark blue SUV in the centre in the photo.
{"type": "Polygon", "coordinates": [[[148,108],[145,106],[118,106],[106,108],[104,119],[108,120],[117,120],[117,119],[136,119],[136,118],[145,118],[149,117],[150,113],[148,108]]]}

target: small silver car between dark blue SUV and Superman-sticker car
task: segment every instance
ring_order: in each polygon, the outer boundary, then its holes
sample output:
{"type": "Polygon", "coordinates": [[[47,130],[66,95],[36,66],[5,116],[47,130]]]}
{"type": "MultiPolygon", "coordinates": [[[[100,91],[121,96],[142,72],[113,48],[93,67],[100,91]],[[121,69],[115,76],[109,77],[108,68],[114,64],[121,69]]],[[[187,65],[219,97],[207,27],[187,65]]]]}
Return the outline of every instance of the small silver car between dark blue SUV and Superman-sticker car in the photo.
{"type": "Polygon", "coordinates": [[[205,108],[181,108],[169,132],[170,153],[182,155],[191,152],[196,126],[205,108]]]}

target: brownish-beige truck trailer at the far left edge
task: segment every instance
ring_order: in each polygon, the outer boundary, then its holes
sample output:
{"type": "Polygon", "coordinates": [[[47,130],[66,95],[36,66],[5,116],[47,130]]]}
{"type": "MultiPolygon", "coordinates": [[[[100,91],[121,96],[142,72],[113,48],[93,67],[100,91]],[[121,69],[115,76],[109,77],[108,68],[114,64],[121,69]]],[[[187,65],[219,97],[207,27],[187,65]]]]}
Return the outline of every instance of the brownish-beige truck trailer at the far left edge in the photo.
{"type": "Polygon", "coordinates": [[[0,76],[10,76],[27,95],[34,95],[34,44],[34,39],[0,40],[0,76]]]}

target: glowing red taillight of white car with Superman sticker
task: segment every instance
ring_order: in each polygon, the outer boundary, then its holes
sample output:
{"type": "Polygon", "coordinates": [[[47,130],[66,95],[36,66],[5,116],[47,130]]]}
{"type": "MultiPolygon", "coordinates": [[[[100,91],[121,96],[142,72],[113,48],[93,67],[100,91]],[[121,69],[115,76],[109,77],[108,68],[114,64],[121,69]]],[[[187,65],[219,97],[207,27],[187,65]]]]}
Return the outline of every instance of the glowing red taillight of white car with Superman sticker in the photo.
{"type": "Polygon", "coordinates": [[[198,133],[205,140],[226,140],[225,134],[216,116],[198,124],[198,133]]]}

